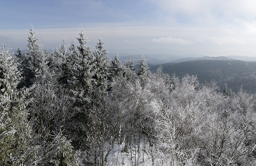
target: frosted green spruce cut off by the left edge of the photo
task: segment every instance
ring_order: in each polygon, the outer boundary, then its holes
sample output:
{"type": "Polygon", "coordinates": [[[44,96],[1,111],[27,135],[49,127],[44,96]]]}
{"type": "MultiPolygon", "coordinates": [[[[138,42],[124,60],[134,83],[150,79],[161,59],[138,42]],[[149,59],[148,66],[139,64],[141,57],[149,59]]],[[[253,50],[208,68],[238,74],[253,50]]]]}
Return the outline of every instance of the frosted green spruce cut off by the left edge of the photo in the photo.
{"type": "Polygon", "coordinates": [[[17,97],[20,79],[21,72],[13,53],[5,45],[0,46],[0,165],[33,162],[28,113],[17,97]]]}

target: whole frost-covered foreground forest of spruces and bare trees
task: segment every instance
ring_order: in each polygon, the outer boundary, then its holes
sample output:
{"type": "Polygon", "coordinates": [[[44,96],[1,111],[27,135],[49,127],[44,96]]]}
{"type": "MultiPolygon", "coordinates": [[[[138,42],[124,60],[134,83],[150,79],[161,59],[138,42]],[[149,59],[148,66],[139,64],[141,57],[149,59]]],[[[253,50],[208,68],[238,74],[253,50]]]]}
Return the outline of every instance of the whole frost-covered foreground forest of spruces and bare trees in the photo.
{"type": "Polygon", "coordinates": [[[0,47],[0,165],[252,166],[256,95],[109,58],[83,29],[47,52],[0,47]]]}

